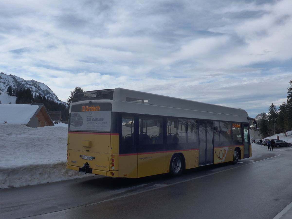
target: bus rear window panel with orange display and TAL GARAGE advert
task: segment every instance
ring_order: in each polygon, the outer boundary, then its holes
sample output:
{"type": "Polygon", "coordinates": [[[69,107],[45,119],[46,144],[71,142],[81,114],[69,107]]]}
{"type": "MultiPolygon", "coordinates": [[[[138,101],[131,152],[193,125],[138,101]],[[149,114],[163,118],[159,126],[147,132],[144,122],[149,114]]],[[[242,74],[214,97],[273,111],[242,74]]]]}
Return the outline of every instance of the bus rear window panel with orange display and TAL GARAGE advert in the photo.
{"type": "Polygon", "coordinates": [[[111,103],[85,103],[71,106],[69,131],[109,132],[111,103]]]}

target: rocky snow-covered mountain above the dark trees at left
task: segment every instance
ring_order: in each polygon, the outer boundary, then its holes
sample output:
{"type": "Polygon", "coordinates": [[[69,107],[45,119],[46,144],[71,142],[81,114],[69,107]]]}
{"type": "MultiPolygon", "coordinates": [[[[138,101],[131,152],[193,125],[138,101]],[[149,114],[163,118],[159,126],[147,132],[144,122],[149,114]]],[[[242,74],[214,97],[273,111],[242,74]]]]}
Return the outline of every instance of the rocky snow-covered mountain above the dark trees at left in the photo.
{"type": "Polygon", "coordinates": [[[0,91],[6,92],[7,88],[12,86],[12,89],[20,90],[20,88],[29,88],[32,91],[32,94],[38,95],[39,93],[41,96],[45,95],[47,99],[52,99],[55,102],[62,102],[59,100],[57,95],[44,83],[35,81],[35,80],[25,80],[23,78],[17,77],[15,75],[8,75],[4,74],[3,72],[0,73],[0,91]]]}

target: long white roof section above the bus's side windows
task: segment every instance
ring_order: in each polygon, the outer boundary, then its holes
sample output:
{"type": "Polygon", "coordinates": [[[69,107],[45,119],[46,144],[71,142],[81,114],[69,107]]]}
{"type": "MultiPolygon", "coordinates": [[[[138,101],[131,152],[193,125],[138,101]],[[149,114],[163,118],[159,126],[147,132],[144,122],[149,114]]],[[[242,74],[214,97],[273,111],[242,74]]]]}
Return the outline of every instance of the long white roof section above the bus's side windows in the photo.
{"type": "MultiPolygon", "coordinates": [[[[112,112],[249,122],[247,112],[240,108],[224,107],[124,88],[99,90],[98,92],[103,91],[112,93],[112,112]]],[[[97,91],[88,91],[84,93],[94,92],[97,91]]],[[[92,102],[101,102],[101,99],[94,99],[92,102]]],[[[107,101],[104,101],[104,98],[102,98],[102,102],[107,101]]]]}

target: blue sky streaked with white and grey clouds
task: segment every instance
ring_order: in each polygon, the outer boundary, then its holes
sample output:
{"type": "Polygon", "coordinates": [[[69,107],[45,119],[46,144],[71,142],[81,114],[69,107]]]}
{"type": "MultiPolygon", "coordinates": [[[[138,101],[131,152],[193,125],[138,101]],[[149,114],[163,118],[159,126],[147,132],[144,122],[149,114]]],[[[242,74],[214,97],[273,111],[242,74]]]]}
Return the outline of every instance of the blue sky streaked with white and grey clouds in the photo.
{"type": "Polygon", "coordinates": [[[287,100],[291,0],[0,1],[0,71],[245,109],[287,100]]]}

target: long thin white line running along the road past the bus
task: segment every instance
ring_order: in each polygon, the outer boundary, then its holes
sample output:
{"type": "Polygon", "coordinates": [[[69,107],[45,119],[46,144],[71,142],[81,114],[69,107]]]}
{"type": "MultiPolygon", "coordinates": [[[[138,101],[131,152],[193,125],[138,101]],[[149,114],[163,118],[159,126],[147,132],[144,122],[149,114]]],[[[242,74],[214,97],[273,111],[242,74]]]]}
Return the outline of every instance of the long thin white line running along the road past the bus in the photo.
{"type": "MultiPolygon", "coordinates": [[[[281,154],[278,154],[277,156],[274,156],[274,157],[278,157],[280,155],[281,154]]],[[[196,180],[196,179],[199,179],[199,178],[203,178],[203,177],[214,175],[214,174],[221,173],[221,172],[224,172],[224,171],[232,170],[232,169],[239,168],[239,167],[242,167],[242,166],[254,164],[254,163],[257,163],[257,162],[260,162],[260,161],[264,161],[264,160],[267,160],[267,159],[271,159],[271,158],[274,158],[274,157],[269,157],[269,158],[266,158],[266,159],[263,159],[263,160],[254,161],[252,163],[244,164],[244,165],[241,165],[241,166],[235,166],[235,167],[230,168],[230,169],[221,170],[221,171],[218,171],[218,172],[209,173],[209,174],[202,175],[202,176],[197,176],[197,177],[194,177],[194,178],[191,178],[191,179],[187,179],[187,180],[183,180],[183,181],[179,181],[179,182],[175,182],[175,183],[171,183],[171,184],[161,184],[160,186],[157,186],[159,184],[155,184],[154,185],[155,187],[151,188],[151,189],[143,190],[143,191],[140,191],[140,192],[134,192],[134,193],[131,193],[131,194],[125,194],[125,195],[117,196],[117,197],[114,197],[114,198],[105,199],[105,200],[102,200],[102,201],[96,201],[96,202],[93,202],[93,203],[90,203],[90,204],[80,205],[80,206],[76,206],[76,207],[72,207],[72,208],[80,208],[80,207],[83,208],[83,207],[87,207],[87,206],[91,206],[91,205],[95,205],[95,204],[104,203],[104,202],[107,202],[107,201],[113,201],[113,200],[116,200],[116,199],[121,199],[121,198],[129,197],[129,196],[132,196],[132,195],[141,194],[143,192],[150,192],[150,191],[157,190],[157,189],[160,189],[160,188],[164,188],[164,187],[167,187],[167,186],[176,185],[176,184],[179,184],[179,183],[185,183],[185,182],[188,182],[188,181],[191,181],[191,180],[196,180]]],[[[72,209],[72,208],[66,208],[66,209],[63,209],[63,210],[60,210],[60,211],[54,211],[54,212],[51,212],[51,213],[33,215],[33,216],[25,217],[25,218],[38,218],[38,216],[40,216],[40,215],[54,215],[56,213],[65,212],[65,211],[67,211],[69,209],[72,209]]],[[[24,218],[19,218],[19,219],[24,219],[24,218]]],[[[276,219],[276,218],[273,218],[273,219],[276,219]]]]}

